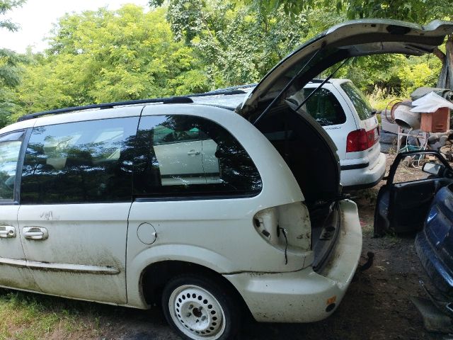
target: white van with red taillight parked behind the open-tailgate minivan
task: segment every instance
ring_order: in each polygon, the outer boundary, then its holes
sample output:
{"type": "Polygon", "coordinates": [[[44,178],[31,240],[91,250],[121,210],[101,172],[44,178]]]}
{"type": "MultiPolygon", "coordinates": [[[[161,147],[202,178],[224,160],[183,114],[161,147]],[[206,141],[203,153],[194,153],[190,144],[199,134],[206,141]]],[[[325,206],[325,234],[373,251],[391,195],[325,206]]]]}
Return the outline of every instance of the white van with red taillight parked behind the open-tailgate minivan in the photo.
{"type": "MultiPolygon", "coordinates": [[[[321,83],[312,79],[304,89],[287,98],[292,103],[301,103],[321,83]]],[[[256,85],[195,95],[195,103],[239,106],[256,85]]],[[[348,79],[330,79],[309,98],[301,110],[309,113],[332,138],[340,159],[340,182],[345,189],[375,186],[386,169],[386,157],[379,145],[379,123],[367,98],[348,79]]]]}

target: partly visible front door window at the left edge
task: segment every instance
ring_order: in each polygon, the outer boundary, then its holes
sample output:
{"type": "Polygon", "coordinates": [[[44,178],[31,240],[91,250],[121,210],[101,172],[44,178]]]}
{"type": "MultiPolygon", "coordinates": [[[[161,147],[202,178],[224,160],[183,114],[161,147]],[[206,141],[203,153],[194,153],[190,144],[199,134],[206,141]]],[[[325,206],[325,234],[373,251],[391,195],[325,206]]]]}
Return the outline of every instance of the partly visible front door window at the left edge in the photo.
{"type": "Polygon", "coordinates": [[[14,200],[14,186],[24,131],[0,136],[0,203],[14,200]]]}

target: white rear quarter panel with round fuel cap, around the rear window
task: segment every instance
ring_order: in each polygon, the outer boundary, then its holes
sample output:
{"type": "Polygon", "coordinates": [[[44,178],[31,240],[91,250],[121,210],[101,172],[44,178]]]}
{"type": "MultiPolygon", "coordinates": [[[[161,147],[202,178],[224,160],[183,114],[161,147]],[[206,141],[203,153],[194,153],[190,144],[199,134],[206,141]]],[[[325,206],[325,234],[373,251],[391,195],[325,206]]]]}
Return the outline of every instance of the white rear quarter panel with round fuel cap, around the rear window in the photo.
{"type": "MultiPolygon", "coordinates": [[[[170,114],[195,115],[222,125],[253,159],[263,188],[250,198],[134,201],[127,237],[128,303],[146,307],[137,290],[142,271],[152,263],[168,259],[191,261],[217,273],[287,272],[309,266],[312,251],[288,250],[285,264],[284,249],[270,246],[253,227],[256,212],[304,200],[294,175],[263,134],[236,113],[210,106],[147,106],[142,116],[170,114]],[[151,245],[143,244],[137,237],[137,228],[143,223],[156,229],[156,242],[151,245]],[[233,238],[233,243],[225,241],[233,238]],[[251,253],[251,248],[256,250],[251,253]]],[[[309,229],[309,221],[304,223],[308,223],[309,229]]]]}

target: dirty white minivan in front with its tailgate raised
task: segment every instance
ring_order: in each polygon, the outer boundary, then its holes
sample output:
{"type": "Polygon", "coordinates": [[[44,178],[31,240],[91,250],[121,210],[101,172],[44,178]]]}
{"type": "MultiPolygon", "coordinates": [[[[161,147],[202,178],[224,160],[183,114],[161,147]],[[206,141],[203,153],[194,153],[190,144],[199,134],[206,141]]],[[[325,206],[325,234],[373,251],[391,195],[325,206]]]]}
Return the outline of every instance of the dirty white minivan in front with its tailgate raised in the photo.
{"type": "Polygon", "coordinates": [[[452,32],[440,21],[340,24],[280,62],[237,112],[173,97],[23,116],[0,130],[0,286],[157,303],[193,340],[230,339],[249,313],[328,317],[362,229],[333,141],[287,98],[340,60],[421,55],[452,32]]]}

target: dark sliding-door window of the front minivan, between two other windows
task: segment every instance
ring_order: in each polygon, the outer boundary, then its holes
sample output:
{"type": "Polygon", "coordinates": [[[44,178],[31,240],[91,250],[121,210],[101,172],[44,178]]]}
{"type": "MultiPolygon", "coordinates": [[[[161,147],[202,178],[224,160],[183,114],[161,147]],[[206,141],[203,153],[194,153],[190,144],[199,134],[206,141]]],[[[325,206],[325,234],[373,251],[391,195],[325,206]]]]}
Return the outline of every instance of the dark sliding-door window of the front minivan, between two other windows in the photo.
{"type": "Polygon", "coordinates": [[[21,204],[132,200],[138,117],[33,128],[23,164],[21,204]]]}

